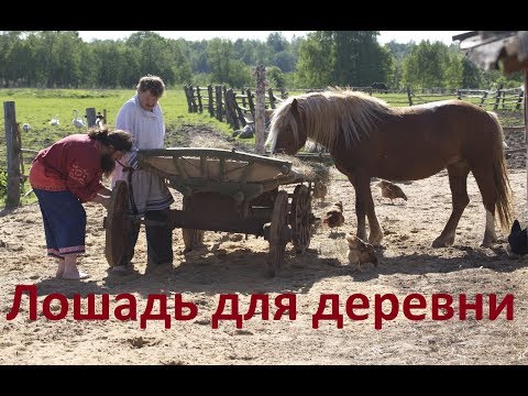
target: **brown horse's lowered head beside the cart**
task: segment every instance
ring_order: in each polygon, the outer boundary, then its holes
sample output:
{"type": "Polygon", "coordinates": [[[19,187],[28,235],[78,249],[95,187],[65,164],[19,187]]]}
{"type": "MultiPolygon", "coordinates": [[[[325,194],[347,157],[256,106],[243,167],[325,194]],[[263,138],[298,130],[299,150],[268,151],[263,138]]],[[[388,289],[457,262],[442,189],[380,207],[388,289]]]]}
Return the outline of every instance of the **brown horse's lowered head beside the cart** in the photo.
{"type": "Polygon", "coordinates": [[[266,141],[272,145],[272,154],[295,155],[305,145],[306,139],[297,99],[275,110],[266,141]]]}

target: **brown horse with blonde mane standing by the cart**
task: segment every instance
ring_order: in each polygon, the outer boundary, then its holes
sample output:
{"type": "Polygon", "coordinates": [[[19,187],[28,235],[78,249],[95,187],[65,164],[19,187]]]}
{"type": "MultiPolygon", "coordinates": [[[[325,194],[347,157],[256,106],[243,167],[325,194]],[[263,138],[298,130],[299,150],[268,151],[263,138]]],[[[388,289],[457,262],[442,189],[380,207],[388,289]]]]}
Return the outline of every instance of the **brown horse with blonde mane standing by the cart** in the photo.
{"type": "Polygon", "coordinates": [[[503,129],[495,113],[462,100],[413,107],[391,107],[360,91],[330,87],[322,92],[293,96],[275,109],[266,145],[272,153],[295,155],[306,143],[324,146],[337,169],[355,189],[356,235],[381,245],[371,178],[418,180],[448,170],[451,216],[433,248],[454,243],[459,220],[470,202],[471,172],[482,195],[486,226],[482,246],[497,241],[495,211],[501,228],[509,231],[512,188],[503,147],[503,129]]]}

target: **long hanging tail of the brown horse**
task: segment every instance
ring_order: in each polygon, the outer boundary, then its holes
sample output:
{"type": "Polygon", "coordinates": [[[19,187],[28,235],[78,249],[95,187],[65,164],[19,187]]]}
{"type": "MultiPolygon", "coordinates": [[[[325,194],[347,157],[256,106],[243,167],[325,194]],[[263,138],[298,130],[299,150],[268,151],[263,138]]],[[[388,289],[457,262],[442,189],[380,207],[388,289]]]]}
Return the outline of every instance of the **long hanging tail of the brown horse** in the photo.
{"type": "Polygon", "coordinates": [[[495,202],[501,229],[509,232],[513,221],[514,208],[512,205],[512,186],[509,185],[508,169],[504,155],[504,132],[501,127],[497,114],[492,111],[487,112],[495,122],[498,130],[498,136],[495,142],[494,163],[493,163],[493,180],[497,189],[497,201],[495,202]]]}

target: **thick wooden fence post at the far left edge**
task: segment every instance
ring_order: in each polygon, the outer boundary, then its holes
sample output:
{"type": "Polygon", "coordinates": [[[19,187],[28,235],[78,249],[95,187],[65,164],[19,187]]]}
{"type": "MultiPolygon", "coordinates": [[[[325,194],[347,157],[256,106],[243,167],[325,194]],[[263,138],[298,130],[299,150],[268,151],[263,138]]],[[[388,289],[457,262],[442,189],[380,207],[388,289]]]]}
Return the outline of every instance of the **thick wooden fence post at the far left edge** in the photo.
{"type": "Polygon", "coordinates": [[[18,138],[16,114],[14,101],[3,102],[6,128],[6,144],[8,147],[8,196],[6,208],[15,208],[20,205],[20,141],[18,138]]]}

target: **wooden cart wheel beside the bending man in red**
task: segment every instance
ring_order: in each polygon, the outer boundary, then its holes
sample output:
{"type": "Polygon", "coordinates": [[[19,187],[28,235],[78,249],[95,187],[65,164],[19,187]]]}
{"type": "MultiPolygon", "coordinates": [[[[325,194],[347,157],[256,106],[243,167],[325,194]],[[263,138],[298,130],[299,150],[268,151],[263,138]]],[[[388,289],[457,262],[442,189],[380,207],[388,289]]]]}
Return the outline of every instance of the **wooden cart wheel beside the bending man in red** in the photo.
{"type": "Polygon", "coordinates": [[[123,180],[118,180],[112,189],[107,217],[102,227],[106,231],[105,256],[110,266],[119,265],[124,254],[128,231],[132,222],[127,211],[129,209],[129,187],[123,180]]]}

